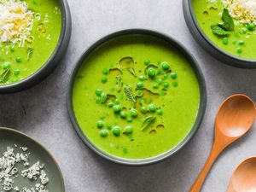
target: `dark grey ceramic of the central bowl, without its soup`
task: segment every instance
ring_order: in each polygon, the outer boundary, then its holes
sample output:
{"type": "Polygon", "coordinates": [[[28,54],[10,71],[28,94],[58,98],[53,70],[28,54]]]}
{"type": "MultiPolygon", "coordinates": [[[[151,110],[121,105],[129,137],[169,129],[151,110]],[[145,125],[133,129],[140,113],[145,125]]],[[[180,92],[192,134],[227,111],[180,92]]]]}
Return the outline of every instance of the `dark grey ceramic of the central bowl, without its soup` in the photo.
{"type": "Polygon", "coordinates": [[[127,166],[145,166],[148,164],[153,164],[156,162],[159,162],[161,160],[165,160],[166,158],[172,156],[172,154],[175,154],[178,150],[183,148],[183,146],[189,142],[189,140],[195,135],[195,132],[198,130],[199,126],[201,125],[201,120],[203,119],[205,110],[206,110],[206,104],[207,104],[207,92],[206,92],[206,84],[205,79],[203,77],[203,74],[201,73],[201,69],[198,66],[197,62],[195,61],[195,58],[189,54],[189,51],[183,47],[182,44],[179,44],[175,39],[170,38],[160,32],[153,32],[149,30],[144,29],[128,29],[120,32],[114,32],[100,40],[98,40],[95,44],[92,44],[89,49],[87,49],[83,55],[79,58],[79,61],[76,63],[73,73],[70,76],[70,80],[68,83],[67,88],[67,109],[69,113],[69,117],[73,123],[74,129],[79,134],[79,137],[82,139],[82,141],[96,154],[101,155],[103,158],[107,160],[111,160],[115,163],[127,165],[127,166]],[[175,148],[172,148],[165,154],[160,154],[158,156],[155,156],[153,158],[144,159],[144,160],[127,160],[118,158],[115,156],[112,156],[110,154],[105,153],[104,151],[100,150],[99,148],[96,148],[96,146],[90,142],[90,140],[84,135],[83,131],[79,127],[79,123],[75,117],[75,113],[73,111],[73,84],[74,80],[77,77],[77,73],[79,71],[79,68],[83,65],[84,60],[90,55],[91,52],[93,52],[95,49],[97,49],[101,44],[104,44],[108,42],[109,40],[113,38],[117,38],[120,36],[131,36],[131,35],[147,35],[152,36],[154,38],[160,38],[167,43],[171,44],[172,47],[178,49],[185,58],[189,61],[191,67],[194,69],[196,77],[198,79],[198,82],[200,84],[200,91],[201,91],[201,102],[200,102],[200,108],[199,113],[197,115],[197,118],[195,120],[195,125],[192,127],[191,131],[189,132],[188,136],[183,139],[181,143],[179,143],[175,148]]]}

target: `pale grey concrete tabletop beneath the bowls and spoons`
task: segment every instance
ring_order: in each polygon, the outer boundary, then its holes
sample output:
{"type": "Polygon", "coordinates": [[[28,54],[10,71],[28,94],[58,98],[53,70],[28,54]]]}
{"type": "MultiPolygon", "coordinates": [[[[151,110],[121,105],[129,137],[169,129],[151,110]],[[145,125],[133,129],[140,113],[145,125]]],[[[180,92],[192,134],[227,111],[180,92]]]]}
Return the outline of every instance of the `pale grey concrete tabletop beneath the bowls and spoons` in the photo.
{"type": "MultiPolygon", "coordinates": [[[[66,57],[41,84],[0,96],[0,125],[23,131],[49,148],[61,166],[67,192],[188,192],[211,149],[219,104],[234,93],[256,101],[256,70],[228,67],[207,55],[185,25],[181,0],[68,2],[73,34],[66,57]],[[84,49],[110,32],[134,27],[165,32],[189,48],[205,74],[208,92],[207,113],[192,141],[172,158],[141,168],[115,165],[92,153],[73,130],[66,108],[67,79],[84,49]]],[[[253,125],[220,156],[202,192],[224,192],[241,160],[256,155],[255,129],[253,125]]]]}

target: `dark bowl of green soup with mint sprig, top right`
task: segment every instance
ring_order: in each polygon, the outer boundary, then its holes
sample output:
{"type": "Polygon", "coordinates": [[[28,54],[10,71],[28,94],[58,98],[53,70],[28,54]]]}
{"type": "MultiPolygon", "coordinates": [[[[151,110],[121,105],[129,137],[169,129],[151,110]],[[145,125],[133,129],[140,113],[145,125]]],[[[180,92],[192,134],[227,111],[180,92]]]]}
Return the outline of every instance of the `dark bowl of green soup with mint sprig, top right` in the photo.
{"type": "Polygon", "coordinates": [[[183,0],[183,14],[194,38],[216,59],[256,68],[254,0],[183,0]]]}

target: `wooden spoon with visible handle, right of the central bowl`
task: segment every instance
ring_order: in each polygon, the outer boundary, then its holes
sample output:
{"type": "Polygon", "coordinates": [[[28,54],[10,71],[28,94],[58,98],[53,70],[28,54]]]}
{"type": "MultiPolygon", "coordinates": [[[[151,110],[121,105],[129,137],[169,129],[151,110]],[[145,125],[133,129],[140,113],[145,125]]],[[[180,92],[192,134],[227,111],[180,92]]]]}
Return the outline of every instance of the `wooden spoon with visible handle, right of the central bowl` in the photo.
{"type": "Polygon", "coordinates": [[[215,119],[215,137],[212,152],[190,192],[199,192],[201,190],[207,173],[218,158],[218,155],[230,143],[235,142],[250,129],[253,125],[255,114],[254,102],[245,95],[230,96],[222,103],[215,119]]]}

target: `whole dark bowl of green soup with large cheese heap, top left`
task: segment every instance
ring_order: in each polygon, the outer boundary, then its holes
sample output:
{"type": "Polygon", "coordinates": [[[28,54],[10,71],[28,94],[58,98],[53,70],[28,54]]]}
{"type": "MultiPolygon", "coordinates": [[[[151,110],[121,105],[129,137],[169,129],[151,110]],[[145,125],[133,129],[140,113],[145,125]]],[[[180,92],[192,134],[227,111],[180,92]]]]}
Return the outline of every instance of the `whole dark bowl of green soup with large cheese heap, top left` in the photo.
{"type": "Polygon", "coordinates": [[[1,0],[0,93],[24,90],[49,75],[70,35],[66,0],[1,0]]]}

